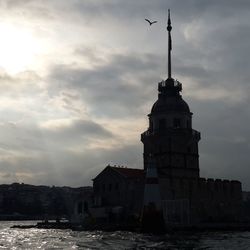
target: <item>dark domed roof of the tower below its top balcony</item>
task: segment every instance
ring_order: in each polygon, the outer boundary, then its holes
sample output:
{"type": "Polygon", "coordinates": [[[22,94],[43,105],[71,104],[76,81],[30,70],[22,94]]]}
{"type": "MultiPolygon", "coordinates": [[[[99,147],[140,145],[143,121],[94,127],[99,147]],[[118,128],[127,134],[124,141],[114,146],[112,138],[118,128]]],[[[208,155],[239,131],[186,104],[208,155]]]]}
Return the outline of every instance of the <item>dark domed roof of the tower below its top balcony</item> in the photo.
{"type": "Polygon", "coordinates": [[[165,112],[185,112],[190,113],[188,104],[181,96],[168,96],[159,98],[151,109],[151,114],[165,112]]]}

